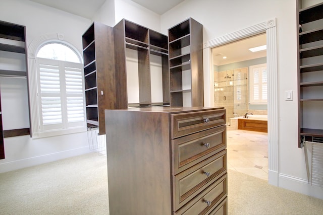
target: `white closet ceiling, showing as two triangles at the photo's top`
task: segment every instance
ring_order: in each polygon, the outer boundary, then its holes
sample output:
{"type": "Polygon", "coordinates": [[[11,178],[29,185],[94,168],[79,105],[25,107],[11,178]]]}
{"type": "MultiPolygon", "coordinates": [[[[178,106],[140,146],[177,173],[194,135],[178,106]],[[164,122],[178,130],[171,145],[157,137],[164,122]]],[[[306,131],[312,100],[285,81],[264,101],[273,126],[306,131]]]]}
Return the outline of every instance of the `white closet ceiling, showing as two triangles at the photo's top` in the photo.
{"type": "MultiPolygon", "coordinates": [[[[105,0],[30,0],[42,5],[69,12],[87,19],[92,19],[97,10],[103,5],[105,0]]],[[[126,0],[131,1],[131,0],[126,0]]],[[[132,0],[144,8],[147,8],[159,15],[164,14],[184,0],[132,0]]]]}

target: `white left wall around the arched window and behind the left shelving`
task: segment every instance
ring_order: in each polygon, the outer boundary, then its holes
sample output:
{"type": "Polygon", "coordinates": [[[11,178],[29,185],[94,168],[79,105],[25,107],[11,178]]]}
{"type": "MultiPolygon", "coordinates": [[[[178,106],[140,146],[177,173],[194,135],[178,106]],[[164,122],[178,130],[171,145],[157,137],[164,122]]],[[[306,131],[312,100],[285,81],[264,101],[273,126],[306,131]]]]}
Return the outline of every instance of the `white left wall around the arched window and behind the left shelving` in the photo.
{"type": "MultiPolygon", "coordinates": [[[[0,20],[26,26],[27,47],[42,34],[60,33],[82,53],[82,34],[90,20],[25,0],[0,0],[0,8],[0,20]]],[[[0,78],[0,86],[4,129],[29,127],[27,80],[0,78]]],[[[24,135],[4,142],[0,172],[89,152],[86,132],[39,139],[24,135]]]]}

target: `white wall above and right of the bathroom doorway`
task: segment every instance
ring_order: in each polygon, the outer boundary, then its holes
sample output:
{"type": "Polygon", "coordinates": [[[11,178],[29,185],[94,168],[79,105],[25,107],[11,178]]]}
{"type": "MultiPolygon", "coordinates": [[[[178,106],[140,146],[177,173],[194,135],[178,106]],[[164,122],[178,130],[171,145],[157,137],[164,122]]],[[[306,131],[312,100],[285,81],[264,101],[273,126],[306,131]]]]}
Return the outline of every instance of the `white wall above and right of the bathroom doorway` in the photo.
{"type": "Polygon", "coordinates": [[[297,24],[295,0],[186,0],[161,15],[161,33],[192,17],[203,25],[203,42],[276,18],[278,55],[279,182],[291,190],[323,198],[323,189],[307,185],[304,151],[298,148],[297,24]],[[285,101],[286,90],[294,101],[285,101]]]}

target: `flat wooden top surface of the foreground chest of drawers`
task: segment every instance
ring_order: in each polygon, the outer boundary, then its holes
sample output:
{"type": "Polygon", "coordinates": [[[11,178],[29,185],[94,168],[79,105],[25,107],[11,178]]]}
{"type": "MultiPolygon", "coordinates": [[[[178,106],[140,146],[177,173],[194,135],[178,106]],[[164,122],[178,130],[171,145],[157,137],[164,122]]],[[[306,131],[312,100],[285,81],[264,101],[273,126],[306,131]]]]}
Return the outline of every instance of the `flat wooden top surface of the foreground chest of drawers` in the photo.
{"type": "Polygon", "coordinates": [[[177,112],[194,112],[205,110],[218,110],[224,109],[224,107],[143,107],[143,108],[128,108],[117,109],[109,111],[138,111],[138,112],[165,112],[165,113],[177,113],[177,112]]]}

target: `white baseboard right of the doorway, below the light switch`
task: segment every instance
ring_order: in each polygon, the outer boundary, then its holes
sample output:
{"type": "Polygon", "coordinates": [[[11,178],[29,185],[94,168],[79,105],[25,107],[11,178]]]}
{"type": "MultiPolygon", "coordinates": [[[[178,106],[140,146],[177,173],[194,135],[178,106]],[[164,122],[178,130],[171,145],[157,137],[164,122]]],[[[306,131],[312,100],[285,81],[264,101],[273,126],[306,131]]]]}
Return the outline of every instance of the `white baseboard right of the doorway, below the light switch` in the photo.
{"type": "Polygon", "coordinates": [[[279,187],[323,199],[323,187],[311,186],[304,179],[279,174],[279,187]]]}

